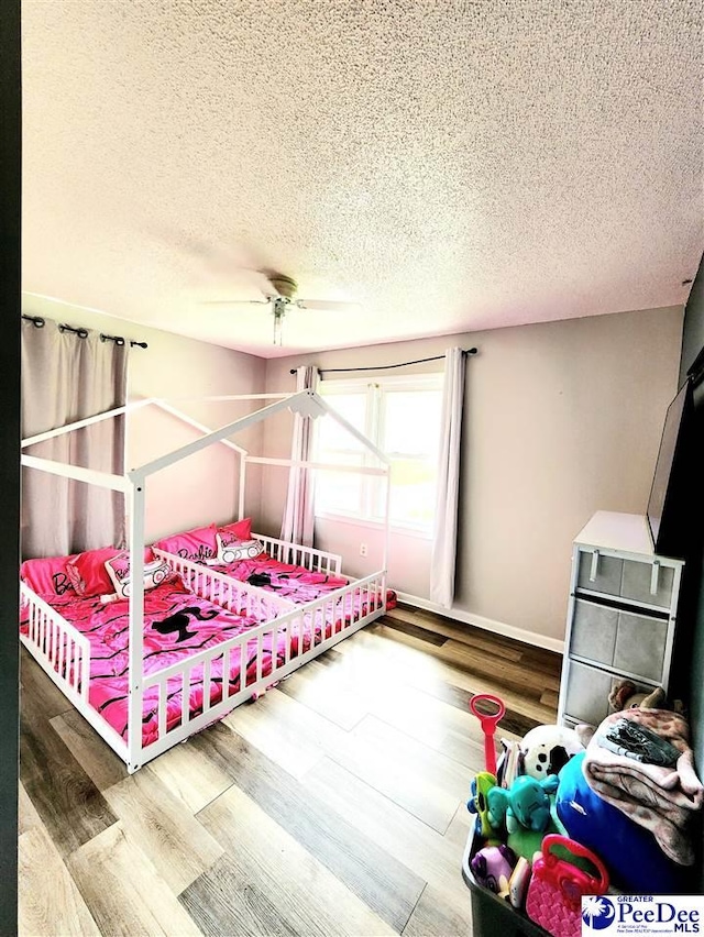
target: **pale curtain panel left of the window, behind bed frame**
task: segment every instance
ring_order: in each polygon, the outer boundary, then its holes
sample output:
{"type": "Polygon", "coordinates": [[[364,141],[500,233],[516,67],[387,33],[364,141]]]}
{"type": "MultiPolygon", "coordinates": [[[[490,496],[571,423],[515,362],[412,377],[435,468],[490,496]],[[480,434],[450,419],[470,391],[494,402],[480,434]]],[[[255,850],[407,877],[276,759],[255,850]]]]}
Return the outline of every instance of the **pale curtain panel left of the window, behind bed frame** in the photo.
{"type": "MultiPolygon", "coordinates": [[[[296,392],[318,388],[318,368],[304,364],[296,370],[296,392]]],[[[307,461],[312,455],[314,422],[311,417],[294,417],[294,439],[290,458],[307,461]]],[[[309,468],[292,465],[288,472],[288,494],[282,523],[282,540],[312,547],[315,526],[314,475],[309,468]]]]}

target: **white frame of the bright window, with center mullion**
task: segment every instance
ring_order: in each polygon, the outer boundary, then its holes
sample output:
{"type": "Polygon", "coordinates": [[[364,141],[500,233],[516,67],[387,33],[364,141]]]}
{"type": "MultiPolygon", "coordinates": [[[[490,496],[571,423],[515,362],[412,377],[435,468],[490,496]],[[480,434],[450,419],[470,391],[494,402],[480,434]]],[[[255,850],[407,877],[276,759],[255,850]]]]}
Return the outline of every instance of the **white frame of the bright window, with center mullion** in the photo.
{"type": "MultiPolygon", "coordinates": [[[[352,377],[341,381],[321,381],[318,386],[320,396],[334,407],[334,398],[337,395],[362,394],[365,396],[365,426],[362,430],[374,444],[385,451],[382,442],[385,434],[385,418],[386,408],[384,407],[385,392],[418,392],[418,390],[436,390],[440,394],[443,388],[443,372],[428,372],[414,375],[389,375],[383,377],[352,377]]],[[[440,415],[438,415],[440,419],[440,415]]],[[[326,455],[319,450],[319,430],[316,430],[315,438],[316,458],[321,461],[327,461],[326,455]]],[[[363,453],[363,465],[369,466],[376,464],[371,452],[363,453]]],[[[367,527],[373,529],[383,529],[386,521],[378,514],[373,515],[374,507],[374,485],[375,479],[369,475],[361,475],[361,505],[362,510],[340,511],[340,510],[322,510],[315,508],[315,516],[320,520],[332,520],[341,523],[353,523],[358,527],[367,527]]],[[[432,539],[433,522],[430,523],[413,523],[410,521],[402,521],[388,518],[389,530],[404,533],[410,537],[418,537],[424,540],[432,539]]]]}

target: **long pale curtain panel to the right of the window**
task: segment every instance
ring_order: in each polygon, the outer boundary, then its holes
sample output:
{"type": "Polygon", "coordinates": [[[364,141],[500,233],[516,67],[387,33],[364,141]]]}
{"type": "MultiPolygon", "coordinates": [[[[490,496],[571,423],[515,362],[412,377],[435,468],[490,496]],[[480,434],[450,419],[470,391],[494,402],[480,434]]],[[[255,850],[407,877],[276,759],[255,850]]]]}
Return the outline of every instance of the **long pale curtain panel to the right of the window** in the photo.
{"type": "Polygon", "coordinates": [[[430,565],[430,600],[442,608],[451,608],[454,598],[463,406],[464,352],[462,349],[448,349],[444,354],[438,494],[430,565]]]}

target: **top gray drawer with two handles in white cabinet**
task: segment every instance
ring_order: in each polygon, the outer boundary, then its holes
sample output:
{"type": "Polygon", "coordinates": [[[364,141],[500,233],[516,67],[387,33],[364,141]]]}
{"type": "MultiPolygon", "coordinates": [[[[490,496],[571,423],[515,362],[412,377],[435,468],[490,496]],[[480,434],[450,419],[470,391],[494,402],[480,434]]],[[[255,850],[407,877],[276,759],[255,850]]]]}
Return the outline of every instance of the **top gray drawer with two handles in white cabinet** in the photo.
{"type": "Polygon", "coordinates": [[[658,608],[670,608],[674,570],[658,563],[622,560],[600,553],[594,563],[594,551],[580,550],[576,586],[579,589],[613,595],[630,602],[640,602],[658,608]],[[592,578],[594,573],[594,578],[592,578]],[[654,585],[654,592],[651,592],[654,585]]]}

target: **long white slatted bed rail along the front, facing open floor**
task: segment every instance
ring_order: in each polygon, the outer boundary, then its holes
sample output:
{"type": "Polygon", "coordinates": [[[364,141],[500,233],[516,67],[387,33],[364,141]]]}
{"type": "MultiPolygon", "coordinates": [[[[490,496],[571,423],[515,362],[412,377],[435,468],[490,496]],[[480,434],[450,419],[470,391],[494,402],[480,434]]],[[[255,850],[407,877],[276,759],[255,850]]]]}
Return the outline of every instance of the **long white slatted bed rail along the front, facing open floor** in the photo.
{"type": "Polygon", "coordinates": [[[250,628],[187,660],[145,674],[144,692],[157,688],[158,736],[144,746],[140,763],[130,765],[129,770],[136,770],[176,742],[221,719],[240,703],[255,698],[367,621],[378,618],[385,608],[386,573],[382,571],[294,607],[276,620],[250,628]],[[169,728],[167,703],[174,693],[180,694],[180,713],[177,725],[169,728]],[[198,693],[202,703],[191,713],[194,693],[198,693]]]}

